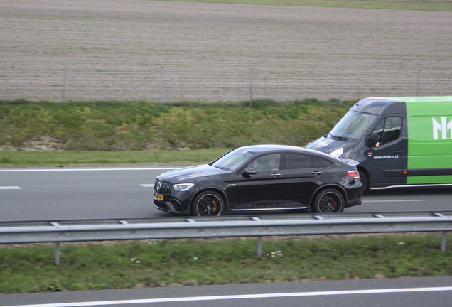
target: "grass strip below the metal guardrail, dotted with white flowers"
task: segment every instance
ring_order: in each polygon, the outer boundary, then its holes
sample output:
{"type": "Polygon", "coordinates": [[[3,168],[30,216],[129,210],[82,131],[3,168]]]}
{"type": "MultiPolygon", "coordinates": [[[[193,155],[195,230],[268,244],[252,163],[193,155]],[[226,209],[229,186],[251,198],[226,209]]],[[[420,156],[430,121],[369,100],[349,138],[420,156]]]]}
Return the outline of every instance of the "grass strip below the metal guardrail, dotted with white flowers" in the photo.
{"type": "Polygon", "coordinates": [[[452,251],[440,252],[440,237],[264,238],[260,259],[256,239],[63,244],[59,266],[53,246],[4,246],[0,293],[451,276],[452,251]]]}

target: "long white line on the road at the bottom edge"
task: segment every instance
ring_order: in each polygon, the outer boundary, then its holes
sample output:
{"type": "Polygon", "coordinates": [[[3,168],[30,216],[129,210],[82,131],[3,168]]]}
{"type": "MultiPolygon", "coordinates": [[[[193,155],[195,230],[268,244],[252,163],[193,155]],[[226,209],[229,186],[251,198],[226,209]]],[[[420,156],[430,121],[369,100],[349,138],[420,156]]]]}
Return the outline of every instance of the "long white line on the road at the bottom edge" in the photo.
{"type": "Polygon", "coordinates": [[[297,296],[332,296],[332,295],[350,295],[350,294],[375,294],[375,293],[406,293],[406,292],[431,292],[431,291],[452,291],[452,286],[431,287],[431,288],[402,288],[402,289],[369,289],[369,290],[348,290],[348,291],[318,291],[318,292],[295,292],[295,293],[262,293],[262,294],[244,294],[230,296],[193,296],[181,298],[148,298],[124,301],[91,301],[78,303],[48,303],[34,305],[14,305],[4,307],[78,307],[78,306],[107,306],[124,305],[137,303],[170,303],[187,301],[220,301],[230,299],[249,299],[249,298],[282,298],[297,296]]]}

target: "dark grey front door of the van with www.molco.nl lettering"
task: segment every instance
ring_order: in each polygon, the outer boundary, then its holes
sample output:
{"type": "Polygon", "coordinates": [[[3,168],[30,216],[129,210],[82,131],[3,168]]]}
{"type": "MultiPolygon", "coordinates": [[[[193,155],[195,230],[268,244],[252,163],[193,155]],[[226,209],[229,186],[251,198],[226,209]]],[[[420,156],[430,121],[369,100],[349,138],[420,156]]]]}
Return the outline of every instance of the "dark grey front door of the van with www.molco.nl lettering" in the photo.
{"type": "Polygon", "coordinates": [[[403,171],[407,166],[408,146],[407,139],[403,137],[404,126],[402,116],[388,116],[373,129],[372,134],[378,134],[379,146],[366,146],[365,151],[371,187],[405,183],[403,171]]]}

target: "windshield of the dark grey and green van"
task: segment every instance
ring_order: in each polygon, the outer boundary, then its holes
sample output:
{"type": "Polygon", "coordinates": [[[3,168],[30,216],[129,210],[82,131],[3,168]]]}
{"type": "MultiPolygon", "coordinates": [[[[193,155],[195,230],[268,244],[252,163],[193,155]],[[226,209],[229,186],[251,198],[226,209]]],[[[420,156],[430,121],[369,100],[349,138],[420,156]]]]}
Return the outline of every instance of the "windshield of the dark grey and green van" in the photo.
{"type": "Polygon", "coordinates": [[[376,114],[349,111],[330,131],[329,137],[343,141],[360,139],[376,119],[376,114]]]}

